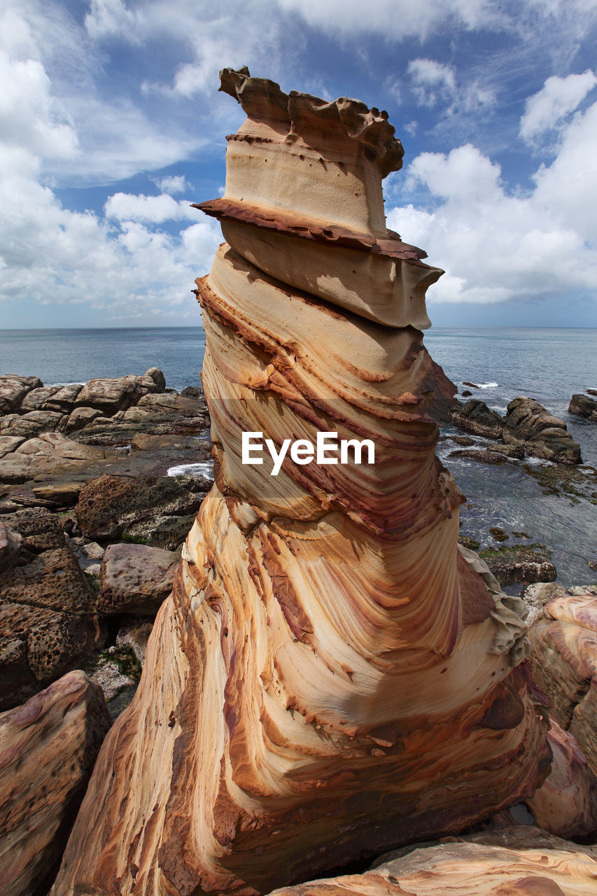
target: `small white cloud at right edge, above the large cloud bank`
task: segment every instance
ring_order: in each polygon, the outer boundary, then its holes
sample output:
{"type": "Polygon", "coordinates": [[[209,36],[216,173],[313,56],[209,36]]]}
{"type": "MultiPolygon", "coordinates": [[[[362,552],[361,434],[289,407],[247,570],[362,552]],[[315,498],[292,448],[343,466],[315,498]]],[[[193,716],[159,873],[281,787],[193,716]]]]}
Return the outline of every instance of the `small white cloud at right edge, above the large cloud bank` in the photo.
{"type": "Polygon", "coordinates": [[[548,78],[541,90],[526,100],[520,122],[520,135],[533,142],[546,131],[557,128],[562,119],[574,112],[586,95],[597,84],[597,78],[587,69],[583,74],[556,75],[548,78]]]}

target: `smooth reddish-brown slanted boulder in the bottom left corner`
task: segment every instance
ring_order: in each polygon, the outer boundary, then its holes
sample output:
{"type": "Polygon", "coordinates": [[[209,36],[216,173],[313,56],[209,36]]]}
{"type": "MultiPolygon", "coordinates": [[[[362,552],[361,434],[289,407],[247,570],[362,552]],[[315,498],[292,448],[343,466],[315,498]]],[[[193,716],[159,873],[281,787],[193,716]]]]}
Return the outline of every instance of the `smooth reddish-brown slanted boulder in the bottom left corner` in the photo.
{"type": "Polygon", "coordinates": [[[0,892],[48,892],[110,719],[81,671],[0,713],[0,892]]]}

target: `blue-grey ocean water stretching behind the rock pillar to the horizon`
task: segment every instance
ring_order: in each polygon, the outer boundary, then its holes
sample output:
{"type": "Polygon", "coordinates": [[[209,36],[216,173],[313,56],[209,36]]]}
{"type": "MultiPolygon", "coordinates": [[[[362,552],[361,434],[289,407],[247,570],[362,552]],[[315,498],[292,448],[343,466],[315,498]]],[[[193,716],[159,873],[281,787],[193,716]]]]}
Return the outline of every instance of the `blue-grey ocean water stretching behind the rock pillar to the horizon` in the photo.
{"type": "MultiPolygon", "coordinates": [[[[563,418],[581,445],[584,463],[597,466],[597,424],[567,414],[574,392],[597,388],[597,330],[550,328],[432,327],[424,334],[431,357],[462,391],[505,413],[516,395],[532,396],[563,418]]],[[[45,385],[85,382],[95,376],[143,374],[158,366],[168,385],[197,385],[203,363],[203,330],[151,327],[101,330],[0,331],[0,373],[37,375],[45,385]]],[[[449,425],[444,435],[454,432],[449,425]]],[[[475,439],[478,444],[485,440],[475,439]]],[[[529,470],[538,461],[498,467],[450,458],[457,446],[441,442],[438,454],[466,495],[461,531],[497,547],[489,530],[509,535],[506,544],[538,541],[553,551],[558,582],[565,587],[597,581],[588,560],[597,560],[597,506],[565,495],[546,495],[529,470]],[[515,531],[529,538],[517,538],[515,531]]]]}

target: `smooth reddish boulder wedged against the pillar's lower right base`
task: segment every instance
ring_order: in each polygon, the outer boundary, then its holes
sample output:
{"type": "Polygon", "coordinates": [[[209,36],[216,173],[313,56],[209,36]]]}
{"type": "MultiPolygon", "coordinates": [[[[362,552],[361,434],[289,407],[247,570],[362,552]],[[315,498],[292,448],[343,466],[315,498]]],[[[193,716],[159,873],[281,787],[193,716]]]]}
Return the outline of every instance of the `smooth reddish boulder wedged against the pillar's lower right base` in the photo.
{"type": "Polygon", "coordinates": [[[551,720],[551,771],[526,800],[537,823],[558,837],[588,838],[597,832],[597,779],[569,731],[551,720]]]}

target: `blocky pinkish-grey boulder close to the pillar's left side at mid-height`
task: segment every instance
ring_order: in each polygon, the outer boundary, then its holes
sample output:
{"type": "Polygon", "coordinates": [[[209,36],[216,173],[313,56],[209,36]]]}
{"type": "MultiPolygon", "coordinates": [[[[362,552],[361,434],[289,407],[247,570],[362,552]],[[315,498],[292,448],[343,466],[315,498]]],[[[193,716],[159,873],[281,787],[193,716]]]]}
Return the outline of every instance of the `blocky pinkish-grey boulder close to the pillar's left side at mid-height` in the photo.
{"type": "Polygon", "coordinates": [[[155,616],[172,590],[179,555],[160,547],[108,545],[101,562],[100,613],[155,616]]]}

